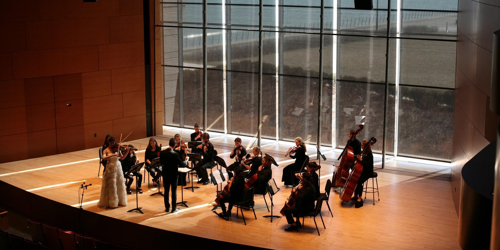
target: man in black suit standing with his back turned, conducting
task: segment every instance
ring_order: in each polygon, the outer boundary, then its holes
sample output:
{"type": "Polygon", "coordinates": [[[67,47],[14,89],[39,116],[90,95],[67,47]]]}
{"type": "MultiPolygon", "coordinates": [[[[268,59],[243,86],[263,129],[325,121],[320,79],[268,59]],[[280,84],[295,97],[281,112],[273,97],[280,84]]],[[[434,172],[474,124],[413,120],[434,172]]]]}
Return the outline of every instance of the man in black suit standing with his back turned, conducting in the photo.
{"type": "MultiPolygon", "coordinates": [[[[182,161],[180,159],[180,155],[173,151],[173,146],[175,146],[175,139],[170,138],[168,141],[168,148],[165,150],[161,150],[159,153],[159,162],[162,165],[163,171],[161,172],[161,176],[163,177],[163,187],[164,191],[164,202],[165,202],[165,211],[168,212],[170,209],[170,203],[168,203],[168,192],[169,186],[172,190],[172,212],[176,212],[179,208],[176,208],[177,205],[177,178],[178,178],[178,166],[185,167],[187,166],[187,161],[182,161]]],[[[188,157],[186,157],[187,160],[188,157]]]]}

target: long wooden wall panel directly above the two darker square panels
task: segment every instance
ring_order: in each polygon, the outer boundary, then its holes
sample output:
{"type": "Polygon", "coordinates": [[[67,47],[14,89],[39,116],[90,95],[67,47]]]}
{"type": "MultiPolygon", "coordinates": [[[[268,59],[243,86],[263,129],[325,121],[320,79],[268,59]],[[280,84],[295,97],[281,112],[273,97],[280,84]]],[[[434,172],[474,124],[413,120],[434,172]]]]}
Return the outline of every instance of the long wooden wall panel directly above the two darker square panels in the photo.
{"type": "Polygon", "coordinates": [[[13,52],[12,65],[14,78],[96,71],[97,46],[13,52]]]}

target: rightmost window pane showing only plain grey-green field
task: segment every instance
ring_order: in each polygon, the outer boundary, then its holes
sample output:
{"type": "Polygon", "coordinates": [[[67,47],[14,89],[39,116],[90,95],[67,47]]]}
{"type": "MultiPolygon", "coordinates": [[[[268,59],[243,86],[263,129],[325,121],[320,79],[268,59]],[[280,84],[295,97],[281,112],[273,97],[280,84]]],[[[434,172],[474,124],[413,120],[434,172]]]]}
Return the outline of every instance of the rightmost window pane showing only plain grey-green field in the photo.
{"type": "Polygon", "coordinates": [[[401,39],[400,84],[455,87],[456,42],[401,39]]]}

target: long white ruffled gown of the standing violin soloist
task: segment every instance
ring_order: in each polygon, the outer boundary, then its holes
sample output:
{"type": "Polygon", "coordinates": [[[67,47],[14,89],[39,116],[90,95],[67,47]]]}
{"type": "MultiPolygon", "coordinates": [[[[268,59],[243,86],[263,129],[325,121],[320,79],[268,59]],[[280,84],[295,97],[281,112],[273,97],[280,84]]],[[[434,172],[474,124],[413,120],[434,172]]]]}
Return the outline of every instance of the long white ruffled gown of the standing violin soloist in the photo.
{"type": "Polygon", "coordinates": [[[113,156],[107,159],[106,171],[102,174],[102,185],[97,207],[102,209],[114,208],[126,204],[125,181],[123,180],[121,163],[118,161],[118,157],[113,156]]]}

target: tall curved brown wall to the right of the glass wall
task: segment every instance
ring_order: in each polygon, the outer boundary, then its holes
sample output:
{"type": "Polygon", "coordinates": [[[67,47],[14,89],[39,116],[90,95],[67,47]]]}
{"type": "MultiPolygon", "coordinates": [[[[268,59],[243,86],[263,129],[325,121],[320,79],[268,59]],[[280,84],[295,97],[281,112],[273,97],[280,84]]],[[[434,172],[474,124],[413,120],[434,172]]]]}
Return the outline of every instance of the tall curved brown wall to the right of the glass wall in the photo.
{"type": "Polygon", "coordinates": [[[500,0],[459,0],[451,193],[458,213],[463,164],[496,139],[500,116],[489,110],[493,31],[500,0]]]}

